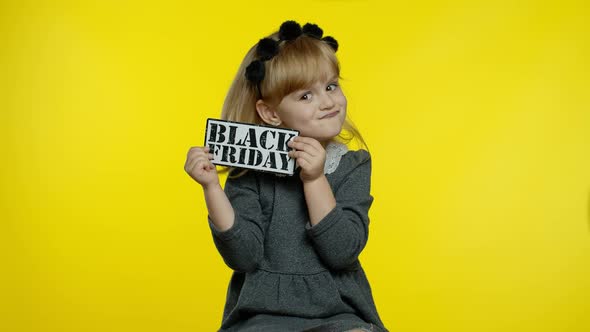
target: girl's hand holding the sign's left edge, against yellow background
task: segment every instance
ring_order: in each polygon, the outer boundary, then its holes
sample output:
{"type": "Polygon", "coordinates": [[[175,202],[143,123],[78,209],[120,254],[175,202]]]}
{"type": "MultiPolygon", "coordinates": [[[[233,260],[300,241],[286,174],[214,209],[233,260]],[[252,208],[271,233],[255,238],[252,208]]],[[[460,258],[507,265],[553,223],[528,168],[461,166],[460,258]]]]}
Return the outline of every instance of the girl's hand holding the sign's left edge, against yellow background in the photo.
{"type": "Polygon", "coordinates": [[[209,147],[193,146],[186,156],[185,172],[203,188],[219,184],[217,169],[211,163],[211,159],[213,154],[209,153],[209,147]]]}

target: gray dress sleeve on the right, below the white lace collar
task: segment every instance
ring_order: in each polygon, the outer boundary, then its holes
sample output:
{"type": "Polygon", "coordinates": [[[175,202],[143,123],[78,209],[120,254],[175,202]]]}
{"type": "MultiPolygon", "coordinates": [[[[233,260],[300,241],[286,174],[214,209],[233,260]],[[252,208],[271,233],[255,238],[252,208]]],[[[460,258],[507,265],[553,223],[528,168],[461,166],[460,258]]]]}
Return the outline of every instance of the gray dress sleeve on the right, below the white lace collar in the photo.
{"type": "Polygon", "coordinates": [[[369,237],[369,208],[373,203],[370,155],[357,151],[353,163],[342,183],[332,188],[336,207],[318,224],[306,225],[316,252],[332,270],[356,263],[369,237]]]}

